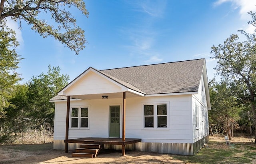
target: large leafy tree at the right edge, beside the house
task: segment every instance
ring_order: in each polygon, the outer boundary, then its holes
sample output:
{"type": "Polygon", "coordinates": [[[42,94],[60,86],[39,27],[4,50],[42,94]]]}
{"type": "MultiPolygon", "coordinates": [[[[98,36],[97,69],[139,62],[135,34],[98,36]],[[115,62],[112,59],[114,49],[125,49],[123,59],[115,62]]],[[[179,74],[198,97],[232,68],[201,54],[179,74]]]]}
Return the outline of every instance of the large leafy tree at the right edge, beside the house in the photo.
{"type": "MultiPolygon", "coordinates": [[[[256,14],[250,12],[252,21],[256,24],[256,14]]],[[[256,129],[256,30],[254,34],[247,34],[247,40],[239,42],[239,37],[232,34],[224,45],[211,47],[212,58],[218,60],[216,71],[221,76],[230,79],[233,83],[234,93],[244,104],[249,103],[254,115],[254,129],[256,129]]],[[[254,131],[256,139],[256,130],[254,131]]]]}

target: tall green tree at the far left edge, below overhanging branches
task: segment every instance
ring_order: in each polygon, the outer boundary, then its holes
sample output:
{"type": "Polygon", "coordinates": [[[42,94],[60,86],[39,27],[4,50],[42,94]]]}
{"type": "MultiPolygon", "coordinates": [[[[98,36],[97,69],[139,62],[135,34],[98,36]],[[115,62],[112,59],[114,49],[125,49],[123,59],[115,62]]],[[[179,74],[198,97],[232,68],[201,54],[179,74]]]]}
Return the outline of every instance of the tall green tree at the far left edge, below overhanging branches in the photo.
{"type": "Polygon", "coordinates": [[[15,51],[17,46],[15,32],[0,27],[0,118],[5,115],[4,108],[11,105],[13,86],[20,80],[16,69],[22,58],[15,51]]]}

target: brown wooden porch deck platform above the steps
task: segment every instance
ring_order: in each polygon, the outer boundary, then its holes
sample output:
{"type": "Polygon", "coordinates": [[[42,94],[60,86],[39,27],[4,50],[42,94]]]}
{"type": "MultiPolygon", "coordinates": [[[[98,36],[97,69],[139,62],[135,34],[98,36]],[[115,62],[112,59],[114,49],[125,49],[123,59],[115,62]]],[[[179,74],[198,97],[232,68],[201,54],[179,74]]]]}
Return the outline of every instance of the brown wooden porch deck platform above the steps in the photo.
{"type": "Polygon", "coordinates": [[[87,138],[76,138],[64,140],[65,143],[77,143],[77,144],[109,144],[109,145],[127,145],[137,142],[141,142],[141,139],[138,138],[125,138],[125,141],[122,141],[122,138],[96,138],[96,137],[87,137],[87,138]]]}

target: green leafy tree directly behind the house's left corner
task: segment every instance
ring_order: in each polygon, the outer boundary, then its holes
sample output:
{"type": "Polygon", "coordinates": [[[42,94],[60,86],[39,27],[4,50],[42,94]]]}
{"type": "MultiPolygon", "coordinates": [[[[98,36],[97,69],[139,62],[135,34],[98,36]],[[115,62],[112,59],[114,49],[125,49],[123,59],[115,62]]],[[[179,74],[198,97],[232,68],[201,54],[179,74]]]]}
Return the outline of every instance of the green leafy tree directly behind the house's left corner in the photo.
{"type": "Polygon", "coordinates": [[[49,65],[47,74],[33,76],[28,81],[28,117],[32,119],[35,131],[45,134],[47,128],[53,128],[54,104],[49,100],[68,84],[68,80],[68,75],[60,74],[59,67],[51,68],[49,65]]]}

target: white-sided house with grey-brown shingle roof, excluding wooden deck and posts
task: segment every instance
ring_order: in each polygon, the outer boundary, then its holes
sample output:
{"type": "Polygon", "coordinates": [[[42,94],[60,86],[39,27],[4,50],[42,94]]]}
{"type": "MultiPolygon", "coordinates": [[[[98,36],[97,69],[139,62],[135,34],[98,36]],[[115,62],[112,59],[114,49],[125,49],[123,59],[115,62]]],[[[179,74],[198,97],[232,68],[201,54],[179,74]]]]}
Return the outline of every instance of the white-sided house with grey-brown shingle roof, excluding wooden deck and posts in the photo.
{"type": "Polygon", "coordinates": [[[55,102],[54,149],[65,147],[67,108],[68,139],[122,138],[124,124],[125,138],[142,139],[126,149],[192,155],[208,142],[205,59],[110,70],[90,67],[50,102],[55,102]]]}

